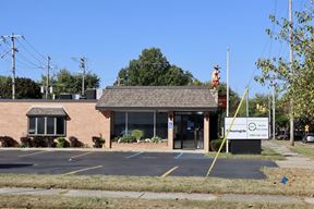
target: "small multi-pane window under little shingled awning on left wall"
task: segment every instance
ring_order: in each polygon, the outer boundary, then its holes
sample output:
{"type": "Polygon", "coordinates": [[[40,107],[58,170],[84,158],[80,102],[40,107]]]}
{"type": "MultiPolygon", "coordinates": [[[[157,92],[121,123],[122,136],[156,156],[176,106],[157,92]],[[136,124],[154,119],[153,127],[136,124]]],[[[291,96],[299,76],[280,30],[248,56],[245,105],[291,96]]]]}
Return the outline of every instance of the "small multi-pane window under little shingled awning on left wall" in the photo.
{"type": "Polygon", "coordinates": [[[32,116],[28,118],[29,135],[65,135],[65,118],[63,116],[32,116]]]}

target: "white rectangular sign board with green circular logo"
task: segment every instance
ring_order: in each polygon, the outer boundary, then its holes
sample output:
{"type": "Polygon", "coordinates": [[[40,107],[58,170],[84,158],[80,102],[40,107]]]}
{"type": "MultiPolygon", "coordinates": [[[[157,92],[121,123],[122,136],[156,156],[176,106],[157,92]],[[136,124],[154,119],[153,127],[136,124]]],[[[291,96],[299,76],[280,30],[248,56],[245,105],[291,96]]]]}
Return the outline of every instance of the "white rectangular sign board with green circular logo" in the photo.
{"type": "MultiPolygon", "coordinates": [[[[225,134],[232,118],[225,118],[225,134]]],[[[227,139],[268,139],[268,118],[235,118],[227,139]]]]}

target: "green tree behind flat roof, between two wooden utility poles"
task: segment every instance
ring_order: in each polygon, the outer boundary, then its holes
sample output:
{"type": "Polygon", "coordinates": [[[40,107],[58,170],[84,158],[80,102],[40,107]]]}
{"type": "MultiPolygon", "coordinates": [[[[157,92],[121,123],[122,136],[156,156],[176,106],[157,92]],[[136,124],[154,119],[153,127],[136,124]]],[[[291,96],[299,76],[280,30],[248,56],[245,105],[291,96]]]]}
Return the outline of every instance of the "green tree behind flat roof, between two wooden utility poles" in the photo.
{"type": "MultiPolygon", "coordinates": [[[[98,88],[100,78],[90,72],[85,74],[85,90],[87,88],[98,88]]],[[[43,76],[41,84],[46,85],[46,76],[43,76]]],[[[60,70],[56,76],[50,78],[53,87],[53,94],[59,96],[62,93],[80,94],[82,93],[82,75],[72,74],[67,69],[60,70]]]]}

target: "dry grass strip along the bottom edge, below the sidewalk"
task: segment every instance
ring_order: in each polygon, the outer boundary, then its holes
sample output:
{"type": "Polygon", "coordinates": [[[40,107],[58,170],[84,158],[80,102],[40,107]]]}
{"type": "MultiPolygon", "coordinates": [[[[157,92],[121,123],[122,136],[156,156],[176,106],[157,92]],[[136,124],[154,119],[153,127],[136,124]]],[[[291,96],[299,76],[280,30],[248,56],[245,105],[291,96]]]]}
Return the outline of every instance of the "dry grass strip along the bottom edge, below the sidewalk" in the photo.
{"type": "Polygon", "coordinates": [[[247,202],[227,202],[227,201],[189,201],[189,200],[144,200],[144,199],[126,199],[126,198],[77,198],[62,196],[1,196],[0,208],[114,208],[114,209],[148,209],[148,208],[172,208],[172,209],[190,209],[190,208],[227,208],[227,209],[310,209],[313,206],[300,204],[247,204],[247,202]]]}

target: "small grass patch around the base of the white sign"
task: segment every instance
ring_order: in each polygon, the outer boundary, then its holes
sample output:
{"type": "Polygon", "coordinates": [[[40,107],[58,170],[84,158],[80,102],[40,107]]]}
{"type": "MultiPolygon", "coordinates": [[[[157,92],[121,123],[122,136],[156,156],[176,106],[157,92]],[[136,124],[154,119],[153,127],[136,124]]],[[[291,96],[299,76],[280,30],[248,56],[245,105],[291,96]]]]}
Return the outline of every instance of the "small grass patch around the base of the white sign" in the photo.
{"type": "MultiPolygon", "coordinates": [[[[208,152],[206,156],[215,158],[217,152],[208,152]]],[[[270,148],[263,147],[261,155],[232,155],[220,152],[219,158],[231,158],[231,159],[261,159],[261,160],[285,160],[285,157],[274,151],[270,148]]]]}

